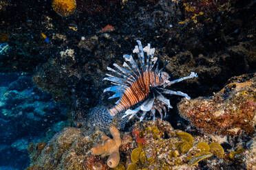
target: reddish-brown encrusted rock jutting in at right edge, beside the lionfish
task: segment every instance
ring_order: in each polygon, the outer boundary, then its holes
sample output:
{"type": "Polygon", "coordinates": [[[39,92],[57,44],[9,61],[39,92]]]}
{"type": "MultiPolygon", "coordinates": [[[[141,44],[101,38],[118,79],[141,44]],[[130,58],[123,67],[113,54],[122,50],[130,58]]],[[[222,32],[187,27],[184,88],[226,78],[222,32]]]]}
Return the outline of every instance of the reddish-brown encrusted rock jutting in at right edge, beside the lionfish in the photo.
{"type": "Polygon", "coordinates": [[[256,74],[233,77],[213,97],[186,100],[178,104],[179,112],[199,130],[209,134],[255,132],[256,74]]]}

